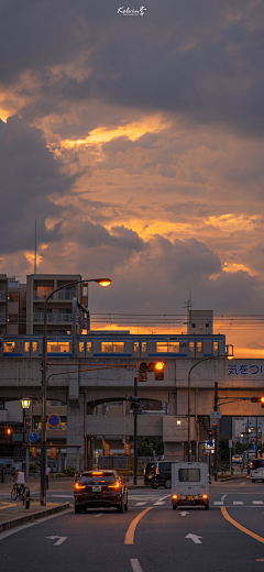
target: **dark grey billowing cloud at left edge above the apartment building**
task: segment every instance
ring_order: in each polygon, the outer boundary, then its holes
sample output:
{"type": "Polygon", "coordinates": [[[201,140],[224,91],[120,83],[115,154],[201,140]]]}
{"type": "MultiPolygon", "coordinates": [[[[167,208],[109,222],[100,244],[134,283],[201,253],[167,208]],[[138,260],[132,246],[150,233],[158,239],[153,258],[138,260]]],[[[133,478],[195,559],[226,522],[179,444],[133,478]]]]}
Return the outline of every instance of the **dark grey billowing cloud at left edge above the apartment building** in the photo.
{"type": "Polygon", "coordinates": [[[18,118],[10,118],[7,124],[0,122],[0,252],[32,250],[35,218],[38,242],[56,240],[59,226],[47,231],[44,224],[46,217],[59,215],[50,196],[65,194],[74,179],[59,173],[59,163],[40,130],[18,118]]]}

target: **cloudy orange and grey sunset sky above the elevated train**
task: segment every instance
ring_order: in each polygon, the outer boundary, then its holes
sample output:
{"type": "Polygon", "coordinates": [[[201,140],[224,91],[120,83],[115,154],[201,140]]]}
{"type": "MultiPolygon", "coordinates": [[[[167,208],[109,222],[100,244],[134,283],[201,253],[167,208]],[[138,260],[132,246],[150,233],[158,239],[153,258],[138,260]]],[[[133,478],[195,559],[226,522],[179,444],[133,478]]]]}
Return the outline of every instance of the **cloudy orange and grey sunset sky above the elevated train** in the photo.
{"type": "Polygon", "coordinates": [[[0,273],[36,219],[37,272],[112,278],[91,312],[262,315],[264,2],[140,6],[1,0],[0,273]]]}

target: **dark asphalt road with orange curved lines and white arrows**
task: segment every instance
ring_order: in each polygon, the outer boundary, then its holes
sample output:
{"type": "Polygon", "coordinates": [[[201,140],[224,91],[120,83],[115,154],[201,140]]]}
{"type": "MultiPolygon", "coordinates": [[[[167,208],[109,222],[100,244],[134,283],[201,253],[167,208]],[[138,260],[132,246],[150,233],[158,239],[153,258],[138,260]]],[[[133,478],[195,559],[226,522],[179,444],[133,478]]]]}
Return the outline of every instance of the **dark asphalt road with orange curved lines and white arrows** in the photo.
{"type": "MultiPolygon", "coordinates": [[[[173,510],[170,491],[130,491],[124,514],[69,510],[1,532],[1,572],[264,570],[264,483],[215,483],[210,495],[209,510],[173,510]]],[[[70,498],[48,493],[53,502],[70,498]]]]}

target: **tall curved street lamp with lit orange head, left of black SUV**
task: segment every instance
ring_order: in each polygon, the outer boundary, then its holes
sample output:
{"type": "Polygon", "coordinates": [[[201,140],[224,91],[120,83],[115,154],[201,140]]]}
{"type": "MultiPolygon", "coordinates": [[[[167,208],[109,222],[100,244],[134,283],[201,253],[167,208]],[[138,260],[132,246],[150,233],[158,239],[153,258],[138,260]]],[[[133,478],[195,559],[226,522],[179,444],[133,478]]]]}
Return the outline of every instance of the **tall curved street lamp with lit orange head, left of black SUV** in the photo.
{"type": "Polygon", "coordinates": [[[100,286],[109,286],[110,278],[92,278],[74,280],[55,288],[46,296],[44,304],[44,334],[43,334],[43,371],[42,371],[42,442],[41,442],[41,505],[46,506],[46,366],[47,366],[47,302],[53,295],[68,286],[76,286],[87,282],[97,282],[100,286]]]}

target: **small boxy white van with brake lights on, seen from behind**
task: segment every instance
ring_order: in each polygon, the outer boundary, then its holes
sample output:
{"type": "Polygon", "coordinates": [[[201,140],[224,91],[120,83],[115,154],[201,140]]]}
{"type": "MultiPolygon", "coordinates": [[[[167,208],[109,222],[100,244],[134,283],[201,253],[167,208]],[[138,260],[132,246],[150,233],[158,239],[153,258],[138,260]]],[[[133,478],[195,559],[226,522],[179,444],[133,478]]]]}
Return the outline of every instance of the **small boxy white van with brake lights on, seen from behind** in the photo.
{"type": "Polygon", "coordinates": [[[173,509],[179,505],[200,505],[209,508],[209,474],[207,463],[172,463],[173,509]]]}

